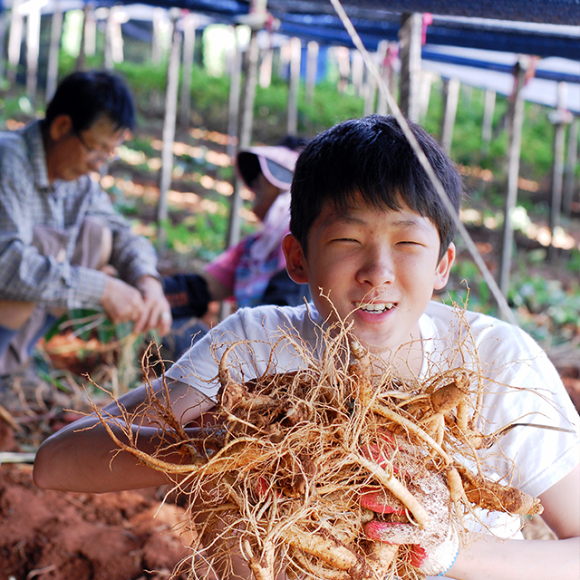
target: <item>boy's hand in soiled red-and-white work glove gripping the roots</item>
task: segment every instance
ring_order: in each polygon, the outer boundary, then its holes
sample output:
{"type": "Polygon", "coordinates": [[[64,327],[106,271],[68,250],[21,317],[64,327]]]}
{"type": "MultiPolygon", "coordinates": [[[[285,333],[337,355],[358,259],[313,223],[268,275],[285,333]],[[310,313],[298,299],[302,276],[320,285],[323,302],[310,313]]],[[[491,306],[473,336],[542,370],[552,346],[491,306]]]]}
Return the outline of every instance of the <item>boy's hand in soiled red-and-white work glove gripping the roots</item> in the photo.
{"type": "MultiPolygon", "coordinates": [[[[399,461],[400,468],[393,466],[395,474],[401,472],[405,459],[413,458],[401,447],[395,448],[391,434],[385,434],[387,447],[379,451],[374,446],[366,449],[366,454],[379,465],[385,464],[389,448],[399,461]]],[[[416,462],[416,459],[414,459],[416,462]]],[[[369,539],[393,545],[411,545],[410,564],[417,567],[425,575],[445,573],[455,562],[459,553],[459,536],[451,525],[449,517],[449,488],[444,474],[426,473],[415,476],[405,471],[402,479],[412,495],[429,514],[429,524],[420,528],[409,523],[405,506],[398,498],[389,492],[364,488],[361,495],[361,505],[376,514],[382,514],[381,519],[372,519],[364,524],[364,531],[369,539]]]]}

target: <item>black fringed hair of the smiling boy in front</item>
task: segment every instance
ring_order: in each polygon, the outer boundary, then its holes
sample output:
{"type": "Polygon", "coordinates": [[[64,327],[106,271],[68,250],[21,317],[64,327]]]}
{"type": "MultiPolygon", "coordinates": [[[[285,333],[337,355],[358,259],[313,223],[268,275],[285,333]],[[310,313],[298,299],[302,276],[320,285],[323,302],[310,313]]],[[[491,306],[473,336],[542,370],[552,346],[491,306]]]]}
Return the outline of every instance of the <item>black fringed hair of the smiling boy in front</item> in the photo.
{"type": "MultiPolygon", "coordinates": [[[[463,186],[458,170],[427,131],[409,123],[449,199],[459,212],[463,186]]],[[[374,208],[401,209],[404,202],[435,224],[440,258],[456,227],[437,190],[392,116],[343,121],[308,141],[292,182],[290,231],[307,253],[307,237],[324,204],[348,208],[359,195],[374,208]]]]}

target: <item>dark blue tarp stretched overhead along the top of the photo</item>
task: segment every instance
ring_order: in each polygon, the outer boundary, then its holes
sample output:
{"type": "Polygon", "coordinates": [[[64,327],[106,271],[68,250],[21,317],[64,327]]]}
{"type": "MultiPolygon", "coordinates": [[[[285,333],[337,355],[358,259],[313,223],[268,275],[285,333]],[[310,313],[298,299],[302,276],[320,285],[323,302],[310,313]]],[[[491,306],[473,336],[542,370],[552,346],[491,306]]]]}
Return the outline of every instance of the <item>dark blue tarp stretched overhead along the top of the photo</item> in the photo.
{"type": "MultiPolygon", "coordinates": [[[[3,2],[0,0],[0,6],[3,2]]],[[[100,0],[92,4],[120,3],[100,0]]],[[[121,4],[185,8],[224,23],[236,22],[250,7],[249,0],[140,0],[121,4]]],[[[423,12],[436,14],[426,30],[426,42],[433,45],[580,61],[580,0],[343,0],[343,5],[370,50],[382,40],[397,39],[402,12],[423,12]]],[[[267,9],[281,22],[282,34],[352,46],[330,0],[268,0],[267,9]]]]}

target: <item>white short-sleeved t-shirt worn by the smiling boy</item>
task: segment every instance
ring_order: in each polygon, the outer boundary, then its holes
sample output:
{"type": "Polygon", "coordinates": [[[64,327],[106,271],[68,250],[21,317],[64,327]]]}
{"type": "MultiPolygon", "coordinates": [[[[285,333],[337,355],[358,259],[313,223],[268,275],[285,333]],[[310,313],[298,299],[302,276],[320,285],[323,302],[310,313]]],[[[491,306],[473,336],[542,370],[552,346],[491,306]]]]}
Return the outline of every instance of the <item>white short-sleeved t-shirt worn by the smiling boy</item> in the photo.
{"type": "MultiPolygon", "coordinates": [[[[169,376],[214,398],[219,388],[218,361],[233,341],[247,341],[228,356],[228,366],[237,380],[303,368],[307,362],[293,343],[278,339],[292,334],[319,360],[322,322],[313,304],[242,308],[185,353],[169,370],[169,376]]],[[[431,302],[421,316],[420,333],[424,353],[420,378],[462,366],[479,370],[489,379],[484,422],[479,426],[484,433],[511,423],[573,431],[514,428],[498,444],[481,452],[489,478],[537,497],[580,462],[578,413],[554,365],[527,333],[490,316],[436,302],[431,302]],[[505,458],[513,459],[513,464],[505,458]]],[[[519,517],[507,514],[482,513],[481,518],[500,537],[515,537],[521,527],[519,517]]]]}

